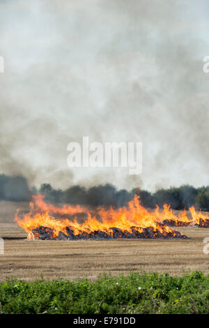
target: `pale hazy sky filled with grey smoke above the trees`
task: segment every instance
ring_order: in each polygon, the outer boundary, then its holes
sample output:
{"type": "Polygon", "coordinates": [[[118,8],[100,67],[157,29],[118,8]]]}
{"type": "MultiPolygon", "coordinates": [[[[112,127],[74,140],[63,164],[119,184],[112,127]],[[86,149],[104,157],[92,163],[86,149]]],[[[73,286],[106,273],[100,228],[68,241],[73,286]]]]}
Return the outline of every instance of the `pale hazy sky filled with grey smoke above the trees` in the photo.
{"type": "Polygon", "coordinates": [[[1,0],[0,172],[55,188],[209,184],[208,1],[1,0]],[[143,142],[143,169],[67,166],[67,145],[143,142]]]}

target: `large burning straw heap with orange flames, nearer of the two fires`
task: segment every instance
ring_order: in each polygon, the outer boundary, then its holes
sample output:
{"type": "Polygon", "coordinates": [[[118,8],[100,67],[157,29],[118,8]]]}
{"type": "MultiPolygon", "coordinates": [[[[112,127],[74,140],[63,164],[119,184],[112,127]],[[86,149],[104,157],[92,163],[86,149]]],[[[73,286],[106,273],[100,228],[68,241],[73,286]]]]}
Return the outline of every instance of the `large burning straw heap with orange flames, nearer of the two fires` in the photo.
{"type": "Polygon", "coordinates": [[[180,232],[163,223],[176,216],[168,205],[160,213],[158,207],[150,212],[141,206],[135,195],[127,207],[104,209],[99,207],[92,214],[86,207],[47,204],[43,195],[33,196],[29,213],[20,215],[15,221],[28,232],[29,239],[86,239],[86,238],[185,238],[180,232]],[[78,223],[77,214],[86,219],[78,223]],[[68,218],[72,216],[72,218],[68,218]]]}

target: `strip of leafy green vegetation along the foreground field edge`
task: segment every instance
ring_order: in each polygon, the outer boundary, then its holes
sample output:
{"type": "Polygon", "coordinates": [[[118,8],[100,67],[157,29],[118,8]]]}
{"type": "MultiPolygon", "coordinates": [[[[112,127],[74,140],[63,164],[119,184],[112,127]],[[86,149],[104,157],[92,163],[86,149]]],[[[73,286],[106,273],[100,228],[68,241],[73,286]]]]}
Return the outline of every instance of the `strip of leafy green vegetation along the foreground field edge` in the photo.
{"type": "Polygon", "coordinates": [[[96,281],[0,283],[1,313],[209,313],[209,275],[102,275],[96,281]]]}

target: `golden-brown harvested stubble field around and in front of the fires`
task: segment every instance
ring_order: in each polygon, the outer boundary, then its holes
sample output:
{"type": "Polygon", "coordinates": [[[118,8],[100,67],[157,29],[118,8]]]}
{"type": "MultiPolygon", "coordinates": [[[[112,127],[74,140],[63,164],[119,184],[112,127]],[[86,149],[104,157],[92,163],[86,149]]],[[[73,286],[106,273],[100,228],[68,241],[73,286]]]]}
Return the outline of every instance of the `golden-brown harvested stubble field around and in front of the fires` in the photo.
{"type": "Polygon", "coordinates": [[[206,228],[178,228],[189,239],[133,239],[88,241],[28,241],[26,232],[13,222],[16,209],[28,204],[0,202],[0,280],[7,277],[96,278],[102,272],[157,271],[181,275],[191,270],[209,274],[209,255],[203,253],[206,228]]]}

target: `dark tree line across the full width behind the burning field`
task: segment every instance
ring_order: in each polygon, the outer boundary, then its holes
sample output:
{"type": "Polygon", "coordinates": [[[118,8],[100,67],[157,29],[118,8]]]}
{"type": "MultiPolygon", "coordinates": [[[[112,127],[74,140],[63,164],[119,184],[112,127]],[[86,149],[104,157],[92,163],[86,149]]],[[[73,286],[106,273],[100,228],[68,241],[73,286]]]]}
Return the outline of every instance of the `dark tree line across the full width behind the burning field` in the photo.
{"type": "Polygon", "coordinates": [[[45,199],[49,202],[83,204],[92,207],[125,206],[132,200],[134,193],[137,193],[144,207],[155,208],[156,204],[162,207],[164,203],[167,203],[172,209],[188,209],[194,205],[197,209],[209,211],[209,186],[194,188],[183,185],[161,188],[150,193],[139,188],[134,188],[132,191],[118,190],[111,184],[106,184],[91,188],[70,186],[63,191],[52,188],[50,184],[41,184],[40,188],[29,188],[24,177],[0,174],[0,200],[29,201],[31,195],[38,193],[45,195],[45,199]]]}

